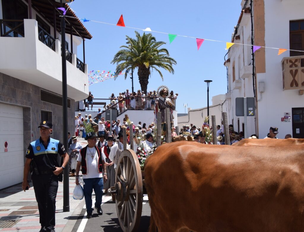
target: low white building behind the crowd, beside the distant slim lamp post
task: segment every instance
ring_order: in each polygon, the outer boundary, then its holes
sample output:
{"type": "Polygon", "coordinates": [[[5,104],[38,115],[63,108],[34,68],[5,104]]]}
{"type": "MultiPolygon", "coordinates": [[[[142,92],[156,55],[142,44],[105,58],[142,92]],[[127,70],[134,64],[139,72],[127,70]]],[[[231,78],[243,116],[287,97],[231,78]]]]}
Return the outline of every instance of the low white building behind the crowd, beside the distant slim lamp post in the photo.
{"type": "MultiPolygon", "coordinates": [[[[225,95],[219,94],[212,97],[212,105],[209,106],[209,124],[212,126],[211,115],[215,115],[216,125],[221,125],[222,122],[222,112],[223,102],[225,101],[225,95]]],[[[191,123],[196,126],[196,128],[202,128],[204,119],[207,116],[207,107],[199,109],[188,108],[188,115],[177,117],[178,128],[183,128],[183,125],[190,125],[191,123]]]]}

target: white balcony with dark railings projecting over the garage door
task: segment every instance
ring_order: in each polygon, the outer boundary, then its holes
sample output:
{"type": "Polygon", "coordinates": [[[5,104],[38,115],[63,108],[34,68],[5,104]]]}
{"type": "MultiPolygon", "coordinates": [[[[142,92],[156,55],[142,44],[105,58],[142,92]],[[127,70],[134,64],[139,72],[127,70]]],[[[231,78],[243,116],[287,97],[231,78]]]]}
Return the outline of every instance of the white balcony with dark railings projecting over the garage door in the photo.
{"type": "MultiPolygon", "coordinates": [[[[0,72],[62,94],[61,44],[35,19],[0,20],[0,72]],[[18,22],[17,22],[18,21],[18,22]]],[[[67,51],[67,95],[88,96],[87,65],[67,51]]]]}

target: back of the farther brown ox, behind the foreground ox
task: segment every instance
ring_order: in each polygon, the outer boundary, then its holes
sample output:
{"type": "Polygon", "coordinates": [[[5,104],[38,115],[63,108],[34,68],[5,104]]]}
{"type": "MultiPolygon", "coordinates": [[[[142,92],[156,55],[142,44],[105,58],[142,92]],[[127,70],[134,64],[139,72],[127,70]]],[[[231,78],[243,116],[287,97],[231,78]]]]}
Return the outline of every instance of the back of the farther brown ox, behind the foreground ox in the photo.
{"type": "Polygon", "coordinates": [[[303,138],[287,138],[287,139],[249,139],[245,138],[239,142],[233,143],[232,146],[289,146],[304,144],[303,138]]]}

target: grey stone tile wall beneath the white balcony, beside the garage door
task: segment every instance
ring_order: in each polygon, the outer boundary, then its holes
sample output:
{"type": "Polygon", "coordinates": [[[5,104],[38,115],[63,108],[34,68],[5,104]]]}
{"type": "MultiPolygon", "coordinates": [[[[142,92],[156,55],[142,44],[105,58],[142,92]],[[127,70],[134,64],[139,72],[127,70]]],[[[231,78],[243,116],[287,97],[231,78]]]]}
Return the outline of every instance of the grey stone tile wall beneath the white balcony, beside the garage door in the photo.
{"type": "MultiPolygon", "coordinates": [[[[58,86],[58,89],[61,88],[62,86],[58,86]]],[[[36,85],[0,73],[0,102],[23,107],[25,151],[29,143],[40,136],[38,126],[41,122],[41,110],[52,112],[53,135],[51,137],[63,142],[62,106],[41,101],[40,92],[41,88],[36,85]]],[[[75,133],[74,106],[75,102],[71,99],[71,108],[68,108],[68,131],[72,136],[75,133]]]]}

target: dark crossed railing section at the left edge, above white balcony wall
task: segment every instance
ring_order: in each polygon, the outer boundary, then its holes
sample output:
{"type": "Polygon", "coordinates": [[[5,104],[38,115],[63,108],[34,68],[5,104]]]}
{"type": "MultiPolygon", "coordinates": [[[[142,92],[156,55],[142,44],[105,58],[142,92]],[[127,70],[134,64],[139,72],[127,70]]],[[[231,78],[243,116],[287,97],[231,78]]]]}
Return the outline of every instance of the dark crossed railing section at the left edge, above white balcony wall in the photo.
{"type": "Polygon", "coordinates": [[[0,37],[24,37],[24,21],[0,19],[0,37]]]}

